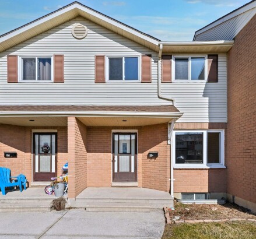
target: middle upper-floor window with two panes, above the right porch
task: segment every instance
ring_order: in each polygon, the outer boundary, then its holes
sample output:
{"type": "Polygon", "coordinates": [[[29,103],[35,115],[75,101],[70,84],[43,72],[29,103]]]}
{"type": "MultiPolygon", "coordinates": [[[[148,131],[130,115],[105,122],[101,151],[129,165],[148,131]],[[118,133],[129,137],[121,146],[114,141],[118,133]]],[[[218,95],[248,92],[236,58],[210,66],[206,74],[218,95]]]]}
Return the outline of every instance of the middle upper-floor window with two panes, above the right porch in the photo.
{"type": "Polygon", "coordinates": [[[107,57],[107,80],[139,81],[139,57],[107,57]]]}

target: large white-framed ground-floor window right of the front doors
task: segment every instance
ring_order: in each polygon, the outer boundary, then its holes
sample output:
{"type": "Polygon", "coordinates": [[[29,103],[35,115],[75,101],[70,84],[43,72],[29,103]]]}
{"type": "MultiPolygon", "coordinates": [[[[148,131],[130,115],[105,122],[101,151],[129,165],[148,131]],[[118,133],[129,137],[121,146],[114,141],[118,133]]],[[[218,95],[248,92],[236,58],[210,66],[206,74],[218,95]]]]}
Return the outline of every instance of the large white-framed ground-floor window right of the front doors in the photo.
{"type": "Polygon", "coordinates": [[[174,131],[174,167],[224,167],[224,131],[174,131]]]}

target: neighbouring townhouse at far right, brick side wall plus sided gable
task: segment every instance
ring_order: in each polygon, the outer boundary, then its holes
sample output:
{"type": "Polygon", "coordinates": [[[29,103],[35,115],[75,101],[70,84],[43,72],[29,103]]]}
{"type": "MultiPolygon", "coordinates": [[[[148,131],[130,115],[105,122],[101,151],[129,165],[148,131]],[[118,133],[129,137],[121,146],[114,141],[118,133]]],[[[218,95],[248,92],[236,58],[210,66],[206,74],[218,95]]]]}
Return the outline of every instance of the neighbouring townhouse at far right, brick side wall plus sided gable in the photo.
{"type": "Polygon", "coordinates": [[[195,33],[195,41],[234,39],[227,52],[227,199],[256,212],[255,42],[251,1],[195,33]]]}

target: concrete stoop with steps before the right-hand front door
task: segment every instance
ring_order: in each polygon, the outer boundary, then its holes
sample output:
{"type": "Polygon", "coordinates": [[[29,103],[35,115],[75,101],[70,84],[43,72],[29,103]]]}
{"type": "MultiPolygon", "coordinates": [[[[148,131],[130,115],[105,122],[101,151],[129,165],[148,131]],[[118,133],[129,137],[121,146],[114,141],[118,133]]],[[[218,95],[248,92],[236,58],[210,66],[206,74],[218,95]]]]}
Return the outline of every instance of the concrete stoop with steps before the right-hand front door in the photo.
{"type": "Polygon", "coordinates": [[[172,208],[173,198],[168,192],[148,188],[86,188],[72,204],[88,212],[150,212],[172,208]]]}

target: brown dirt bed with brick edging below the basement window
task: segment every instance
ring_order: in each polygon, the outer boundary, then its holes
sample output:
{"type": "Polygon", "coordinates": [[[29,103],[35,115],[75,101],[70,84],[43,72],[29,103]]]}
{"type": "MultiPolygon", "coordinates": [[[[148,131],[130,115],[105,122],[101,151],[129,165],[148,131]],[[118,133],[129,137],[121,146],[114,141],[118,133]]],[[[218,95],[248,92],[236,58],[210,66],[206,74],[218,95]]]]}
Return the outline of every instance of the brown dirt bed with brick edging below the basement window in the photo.
{"type": "Polygon", "coordinates": [[[180,217],[178,220],[206,220],[206,219],[256,219],[256,215],[250,210],[226,203],[224,205],[208,205],[208,204],[183,204],[174,202],[174,209],[169,209],[171,220],[180,217]]]}

